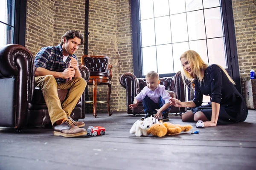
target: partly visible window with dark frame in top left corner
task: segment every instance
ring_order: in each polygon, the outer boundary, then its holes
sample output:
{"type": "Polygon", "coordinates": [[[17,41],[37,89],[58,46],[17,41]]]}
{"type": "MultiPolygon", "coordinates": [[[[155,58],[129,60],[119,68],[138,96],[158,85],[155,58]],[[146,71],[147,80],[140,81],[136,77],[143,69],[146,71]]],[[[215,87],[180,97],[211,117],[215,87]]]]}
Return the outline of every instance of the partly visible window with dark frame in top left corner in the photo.
{"type": "Polygon", "coordinates": [[[26,0],[1,0],[0,47],[16,43],[25,45],[26,0]]]}

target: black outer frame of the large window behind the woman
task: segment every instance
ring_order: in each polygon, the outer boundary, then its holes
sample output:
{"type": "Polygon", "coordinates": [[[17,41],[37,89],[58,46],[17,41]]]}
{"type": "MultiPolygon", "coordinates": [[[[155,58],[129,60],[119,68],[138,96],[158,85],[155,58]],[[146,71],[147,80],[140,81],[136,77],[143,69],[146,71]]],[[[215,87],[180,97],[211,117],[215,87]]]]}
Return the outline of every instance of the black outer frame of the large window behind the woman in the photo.
{"type": "MultiPolygon", "coordinates": [[[[223,17],[223,26],[225,34],[225,43],[227,51],[227,72],[236,82],[236,88],[241,93],[241,80],[239,74],[238,54],[236,48],[236,34],[233,20],[232,0],[221,0],[221,9],[223,17]]],[[[134,75],[138,78],[144,78],[142,75],[142,59],[140,46],[140,16],[139,16],[139,0],[131,0],[131,24],[133,37],[133,66],[134,75]]],[[[160,74],[160,77],[174,76],[172,74],[160,74]]]]}

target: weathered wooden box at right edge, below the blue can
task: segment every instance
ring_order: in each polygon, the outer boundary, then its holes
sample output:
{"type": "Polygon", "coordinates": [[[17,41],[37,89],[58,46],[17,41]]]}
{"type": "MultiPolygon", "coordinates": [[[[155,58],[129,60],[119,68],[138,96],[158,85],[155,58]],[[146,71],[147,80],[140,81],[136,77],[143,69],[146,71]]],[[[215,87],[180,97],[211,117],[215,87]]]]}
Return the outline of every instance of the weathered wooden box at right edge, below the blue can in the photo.
{"type": "Polygon", "coordinates": [[[256,79],[244,82],[245,102],[248,109],[256,109],[256,79]]]}

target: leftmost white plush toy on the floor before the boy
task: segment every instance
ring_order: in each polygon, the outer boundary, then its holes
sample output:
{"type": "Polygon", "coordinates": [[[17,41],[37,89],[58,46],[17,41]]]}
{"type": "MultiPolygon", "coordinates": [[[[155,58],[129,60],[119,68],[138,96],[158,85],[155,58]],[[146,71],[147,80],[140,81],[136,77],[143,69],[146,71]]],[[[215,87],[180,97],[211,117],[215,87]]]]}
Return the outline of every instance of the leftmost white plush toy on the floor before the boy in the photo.
{"type": "Polygon", "coordinates": [[[141,135],[143,136],[148,136],[147,130],[150,126],[150,122],[148,121],[143,121],[143,120],[137,120],[131,127],[130,133],[133,134],[135,133],[135,136],[140,137],[141,135]]]}

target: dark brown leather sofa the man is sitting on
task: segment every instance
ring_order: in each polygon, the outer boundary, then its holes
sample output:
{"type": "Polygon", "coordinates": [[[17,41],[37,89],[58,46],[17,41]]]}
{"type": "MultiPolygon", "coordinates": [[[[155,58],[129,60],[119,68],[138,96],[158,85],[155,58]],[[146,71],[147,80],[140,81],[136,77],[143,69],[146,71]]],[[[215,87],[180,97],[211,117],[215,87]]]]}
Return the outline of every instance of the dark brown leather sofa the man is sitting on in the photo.
{"type": "MultiPolygon", "coordinates": [[[[82,77],[88,82],[89,70],[80,65],[82,77]]],[[[47,106],[40,88],[35,88],[34,57],[22,45],[0,48],[0,126],[22,129],[50,123],[47,106]]],[[[58,89],[63,102],[68,90],[58,89]]],[[[85,93],[71,113],[73,119],[85,117],[85,93]]]]}

